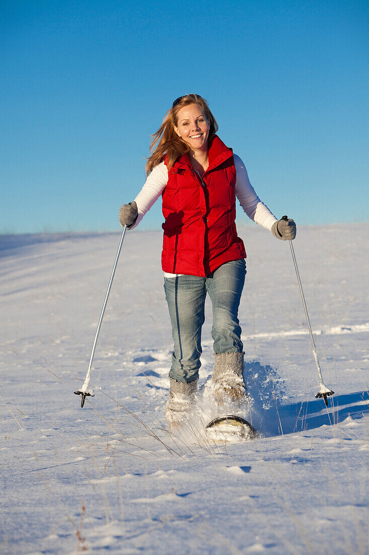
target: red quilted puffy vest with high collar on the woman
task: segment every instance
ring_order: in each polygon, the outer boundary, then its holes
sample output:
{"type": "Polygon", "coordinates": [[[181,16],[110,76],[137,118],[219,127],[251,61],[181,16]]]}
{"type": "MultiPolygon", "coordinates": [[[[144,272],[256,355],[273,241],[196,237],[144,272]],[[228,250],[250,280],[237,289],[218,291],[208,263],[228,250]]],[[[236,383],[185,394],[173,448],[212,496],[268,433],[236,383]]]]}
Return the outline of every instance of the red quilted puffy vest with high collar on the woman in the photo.
{"type": "Polygon", "coordinates": [[[187,154],[177,158],[162,193],[163,271],[204,277],[246,257],[234,223],[235,179],[233,152],[217,135],[202,179],[187,154]]]}

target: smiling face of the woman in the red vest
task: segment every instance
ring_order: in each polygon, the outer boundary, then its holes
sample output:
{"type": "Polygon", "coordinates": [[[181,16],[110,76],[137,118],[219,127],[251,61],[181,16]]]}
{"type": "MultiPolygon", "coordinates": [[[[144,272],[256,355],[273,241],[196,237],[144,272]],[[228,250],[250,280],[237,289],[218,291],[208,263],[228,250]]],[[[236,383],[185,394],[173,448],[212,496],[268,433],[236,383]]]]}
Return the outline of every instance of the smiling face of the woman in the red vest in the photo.
{"type": "Polygon", "coordinates": [[[207,150],[210,125],[201,106],[183,106],[177,117],[178,127],[175,126],[175,132],[178,137],[181,137],[192,150],[207,150]]]}

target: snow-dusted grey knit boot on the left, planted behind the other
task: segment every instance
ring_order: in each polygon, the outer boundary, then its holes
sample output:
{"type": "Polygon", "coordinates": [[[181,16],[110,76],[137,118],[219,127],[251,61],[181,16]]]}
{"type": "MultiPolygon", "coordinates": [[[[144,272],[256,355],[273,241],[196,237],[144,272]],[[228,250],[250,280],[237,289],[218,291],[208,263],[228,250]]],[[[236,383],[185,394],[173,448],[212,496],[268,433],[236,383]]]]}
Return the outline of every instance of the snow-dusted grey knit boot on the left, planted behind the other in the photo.
{"type": "Polygon", "coordinates": [[[176,427],[186,422],[188,412],[194,406],[194,398],[197,391],[197,380],[186,384],[177,382],[170,377],[169,400],[165,406],[165,417],[167,422],[176,427]]]}

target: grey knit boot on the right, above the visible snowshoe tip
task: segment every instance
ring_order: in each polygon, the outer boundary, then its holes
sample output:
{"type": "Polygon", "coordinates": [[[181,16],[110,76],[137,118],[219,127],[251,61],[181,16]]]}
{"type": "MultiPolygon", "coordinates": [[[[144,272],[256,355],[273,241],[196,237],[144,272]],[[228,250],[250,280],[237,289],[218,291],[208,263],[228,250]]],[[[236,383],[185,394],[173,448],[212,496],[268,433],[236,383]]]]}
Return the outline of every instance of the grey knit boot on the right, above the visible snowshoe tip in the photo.
{"type": "Polygon", "coordinates": [[[225,401],[240,402],[247,396],[247,387],[243,381],[243,355],[243,352],[214,355],[214,396],[220,404],[225,401]]]}

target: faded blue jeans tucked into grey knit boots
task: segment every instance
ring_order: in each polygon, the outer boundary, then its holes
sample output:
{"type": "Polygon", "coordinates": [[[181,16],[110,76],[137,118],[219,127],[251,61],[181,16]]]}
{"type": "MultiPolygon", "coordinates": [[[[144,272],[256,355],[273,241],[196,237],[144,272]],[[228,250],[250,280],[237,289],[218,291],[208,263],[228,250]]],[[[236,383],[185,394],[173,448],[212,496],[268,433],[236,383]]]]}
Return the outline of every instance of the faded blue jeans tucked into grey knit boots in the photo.
{"type": "Polygon", "coordinates": [[[169,372],[171,378],[187,383],[198,379],[207,293],[213,307],[214,352],[243,351],[237,315],[245,274],[246,264],[241,259],[223,264],[206,278],[187,275],[164,278],[175,342],[169,372]]]}

